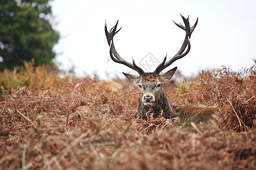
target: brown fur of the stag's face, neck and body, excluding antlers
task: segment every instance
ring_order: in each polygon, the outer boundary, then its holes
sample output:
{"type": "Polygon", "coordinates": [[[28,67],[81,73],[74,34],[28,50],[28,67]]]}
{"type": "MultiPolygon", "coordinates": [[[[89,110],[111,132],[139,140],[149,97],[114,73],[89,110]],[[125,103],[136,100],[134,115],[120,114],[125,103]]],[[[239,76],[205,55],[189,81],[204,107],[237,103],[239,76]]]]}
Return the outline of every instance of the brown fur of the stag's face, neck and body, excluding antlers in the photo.
{"type": "Polygon", "coordinates": [[[154,118],[162,114],[165,118],[181,117],[182,119],[185,118],[184,121],[186,121],[187,118],[196,115],[191,121],[195,123],[208,123],[213,114],[223,111],[220,108],[205,108],[193,105],[171,106],[167,100],[165,91],[162,89],[162,84],[171,78],[174,71],[168,74],[144,73],[140,76],[125,74],[132,83],[139,84],[138,112],[140,118],[146,120],[149,114],[153,113],[154,118]],[[161,86],[157,87],[159,84],[161,86]],[[142,101],[145,94],[154,96],[155,101],[151,105],[145,105],[142,101]]]}

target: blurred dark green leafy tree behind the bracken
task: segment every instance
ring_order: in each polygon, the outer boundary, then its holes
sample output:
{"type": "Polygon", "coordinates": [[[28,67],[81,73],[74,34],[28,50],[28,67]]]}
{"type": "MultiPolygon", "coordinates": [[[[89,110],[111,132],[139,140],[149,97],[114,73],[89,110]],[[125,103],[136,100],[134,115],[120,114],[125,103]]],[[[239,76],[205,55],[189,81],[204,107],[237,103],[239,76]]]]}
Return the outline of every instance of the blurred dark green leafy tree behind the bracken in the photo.
{"type": "Polygon", "coordinates": [[[0,1],[0,70],[13,69],[35,59],[35,66],[54,66],[53,46],[59,33],[49,20],[49,0],[0,1]]]}

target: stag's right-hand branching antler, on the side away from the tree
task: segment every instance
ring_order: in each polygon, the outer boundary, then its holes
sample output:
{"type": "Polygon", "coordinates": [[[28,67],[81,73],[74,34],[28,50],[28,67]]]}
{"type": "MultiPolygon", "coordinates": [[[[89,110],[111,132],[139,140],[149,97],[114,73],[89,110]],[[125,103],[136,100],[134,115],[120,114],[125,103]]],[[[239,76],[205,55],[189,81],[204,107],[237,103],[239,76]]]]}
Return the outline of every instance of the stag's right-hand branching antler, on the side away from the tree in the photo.
{"type": "Polygon", "coordinates": [[[187,53],[190,52],[190,36],[191,36],[191,33],[194,31],[194,29],[196,27],[196,24],[198,24],[198,18],[196,19],[195,24],[192,27],[190,27],[190,23],[188,21],[189,16],[187,17],[187,19],[184,18],[183,15],[181,15],[181,17],[183,19],[183,22],[184,22],[185,26],[183,26],[181,23],[178,24],[175,21],[173,21],[179,28],[184,29],[186,31],[186,37],[185,37],[184,42],[183,42],[183,44],[181,46],[181,49],[179,49],[178,53],[175,54],[175,56],[173,56],[173,58],[171,58],[167,62],[165,62],[166,61],[166,56],[165,56],[165,58],[163,59],[163,62],[160,63],[159,66],[157,66],[156,70],[154,70],[154,73],[156,73],[156,74],[160,74],[160,72],[163,69],[165,69],[166,67],[170,66],[177,59],[180,59],[180,58],[186,56],[187,53]],[[188,45],[188,47],[187,47],[187,45],[188,45]],[[184,52],[186,47],[187,47],[187,50],[186,50],[186,52],[184,52]]]}

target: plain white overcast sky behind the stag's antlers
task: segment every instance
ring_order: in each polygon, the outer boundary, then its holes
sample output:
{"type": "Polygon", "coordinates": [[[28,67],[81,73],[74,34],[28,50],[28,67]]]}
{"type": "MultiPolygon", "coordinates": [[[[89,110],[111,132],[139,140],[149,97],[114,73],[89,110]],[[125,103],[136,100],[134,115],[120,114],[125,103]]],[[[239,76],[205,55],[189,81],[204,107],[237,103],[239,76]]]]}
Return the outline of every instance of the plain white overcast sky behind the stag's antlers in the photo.
{"type": "Polygon", "coordinates": [[[96,73],[102,79],[130,69],[110,59],[104,33],[119,20],[121,31],[114,37],[117,52],[129,62],[138,63],[149,52],[159,61],[178,52],[186,32],[174,23],[179,14],[190,15],[191,26],[199,18],[191,36],[191,50],[164,71],[178,66],[186,76],[202,69],[223,65],[237,71],[251,67],[256,59],[256,1],[83,1],[51,2],[54,23],[61,39],[54,47],[60,69],[74,66],[77,76],[96,73]]]}

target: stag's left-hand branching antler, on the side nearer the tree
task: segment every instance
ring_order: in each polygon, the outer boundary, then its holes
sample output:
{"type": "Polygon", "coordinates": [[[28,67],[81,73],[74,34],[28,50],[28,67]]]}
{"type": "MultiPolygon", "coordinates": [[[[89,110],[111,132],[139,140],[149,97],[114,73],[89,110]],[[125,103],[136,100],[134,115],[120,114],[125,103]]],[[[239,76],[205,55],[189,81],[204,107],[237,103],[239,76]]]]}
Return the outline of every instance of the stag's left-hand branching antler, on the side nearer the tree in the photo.
{"type": "Polygon", "coordinates": [[[137,71],[140,75],[144,74],[145,72],[135,64],[133,58],[132,58],[132,63],[129,63],[127,61],[125,61],[117,52],[116,52],[116,49],[115,49],[115,45],[114,45],[114,42],[113,42],[113,37],[116,35],[117,32],[120,31],[120,29],[118,29],[116,31],[116,28],[117,28],[117,24],[118,24],[118,20],[116,22],[116,25],[114,27],[112,27],[110,29],[110,32],[107,31],[107,23],[105,22],[105,33],[106,33],[106,37],[107,37],[107,42],[108,42],[108,45],[110,46],[110,57],[113,61],[117,62],[117,63],[121,63],[127,67],[130,67],[131,69],[137,71]],[[114,56],[113,56],[114,54],[114,56]]]}

